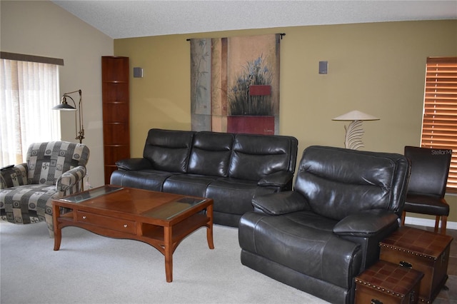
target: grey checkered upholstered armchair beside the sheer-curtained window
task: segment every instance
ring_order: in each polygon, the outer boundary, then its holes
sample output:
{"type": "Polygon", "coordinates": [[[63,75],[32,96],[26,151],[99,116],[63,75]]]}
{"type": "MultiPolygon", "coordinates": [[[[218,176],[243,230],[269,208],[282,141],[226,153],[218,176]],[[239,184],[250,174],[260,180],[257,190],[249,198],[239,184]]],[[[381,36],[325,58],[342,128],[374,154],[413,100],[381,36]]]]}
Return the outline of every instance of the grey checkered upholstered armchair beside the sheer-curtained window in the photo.
{"type": "Polygon", "coordinates": [[[1,219],[10,223],[46,221],[54,237],[52,199],[83,190],[89,148],[82,143],[32,143],[26,163],[1,169],[1,219]]]}

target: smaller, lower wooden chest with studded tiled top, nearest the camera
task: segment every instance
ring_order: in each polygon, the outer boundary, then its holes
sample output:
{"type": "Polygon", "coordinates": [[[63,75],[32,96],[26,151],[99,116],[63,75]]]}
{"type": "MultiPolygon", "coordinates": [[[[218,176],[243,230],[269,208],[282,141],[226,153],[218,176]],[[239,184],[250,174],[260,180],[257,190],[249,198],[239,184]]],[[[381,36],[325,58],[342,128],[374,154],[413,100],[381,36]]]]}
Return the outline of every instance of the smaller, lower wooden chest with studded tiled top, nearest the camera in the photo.
{"type": "Polygon", "coordinates": [[[356,277],[355,303],[418,303],[423,273],[379,260],[356,277]]]}

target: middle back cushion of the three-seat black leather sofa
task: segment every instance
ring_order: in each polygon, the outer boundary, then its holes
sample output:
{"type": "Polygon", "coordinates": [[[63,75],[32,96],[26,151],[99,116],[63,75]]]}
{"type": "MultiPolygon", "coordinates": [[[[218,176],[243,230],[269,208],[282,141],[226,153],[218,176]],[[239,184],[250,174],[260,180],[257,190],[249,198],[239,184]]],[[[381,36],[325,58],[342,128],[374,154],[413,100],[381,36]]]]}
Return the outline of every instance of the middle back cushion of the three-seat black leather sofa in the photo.
{"type": "Polygon", "coordinates": [[[187,173],[227,176],[233,138],[231,133],[196,133],[187,173]]]}

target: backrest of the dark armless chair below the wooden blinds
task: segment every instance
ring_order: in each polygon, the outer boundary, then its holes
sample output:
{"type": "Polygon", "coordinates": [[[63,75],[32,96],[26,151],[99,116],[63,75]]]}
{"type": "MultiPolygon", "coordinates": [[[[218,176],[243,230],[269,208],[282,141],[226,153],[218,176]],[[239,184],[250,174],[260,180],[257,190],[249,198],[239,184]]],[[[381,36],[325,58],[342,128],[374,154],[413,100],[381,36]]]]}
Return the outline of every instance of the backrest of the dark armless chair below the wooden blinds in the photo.
{"type": "Polygon", "coordinates": [[[411,161],[408,193],[444,197],[451,165],[451,149],[405,147],[411,161]]]}

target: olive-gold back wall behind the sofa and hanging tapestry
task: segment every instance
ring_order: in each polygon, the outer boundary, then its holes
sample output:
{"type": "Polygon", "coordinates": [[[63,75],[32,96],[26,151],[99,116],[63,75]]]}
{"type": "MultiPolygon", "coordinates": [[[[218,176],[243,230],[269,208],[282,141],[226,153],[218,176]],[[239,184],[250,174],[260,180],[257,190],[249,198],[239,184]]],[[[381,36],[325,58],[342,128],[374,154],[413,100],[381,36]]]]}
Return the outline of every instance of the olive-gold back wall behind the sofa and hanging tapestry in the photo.
{"type": "MultiPolygon", "coordinates": [[[[457,56],[457,21],[407,21],[225,31],[115,39],[144,78],[131,78],[131,154],[141,157],[149,128],[189,130],[189,38],[286,33],[281,41],[280,133],[310,145],[343,146],[343,121],[359,110],[381,118],[363,123],[363,150],[403,153],[421,136],[427,56],[457,56]],[[328,61],[328,74],[318,74],[328,61]]],[[[457,197],[447,196],[449,221],[457,197]]],[[[457,228],[457,227],[456,227],[457,228]]]]}

